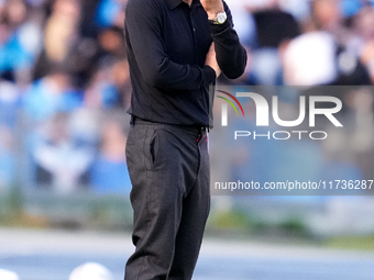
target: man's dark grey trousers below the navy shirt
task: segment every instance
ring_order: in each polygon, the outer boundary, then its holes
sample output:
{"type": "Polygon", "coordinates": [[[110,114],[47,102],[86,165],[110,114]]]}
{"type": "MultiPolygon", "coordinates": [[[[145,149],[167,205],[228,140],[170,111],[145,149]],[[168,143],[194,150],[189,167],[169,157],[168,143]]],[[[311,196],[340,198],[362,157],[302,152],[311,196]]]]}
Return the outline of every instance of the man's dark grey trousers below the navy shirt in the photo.
{"type": "Polygon", "coordinates": [[[205,128],[135,120],[127,143],[134,210],[125,280],[191,279],[210,208],[205,128]]]}

